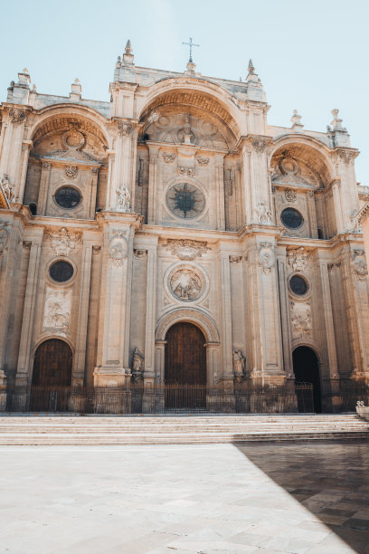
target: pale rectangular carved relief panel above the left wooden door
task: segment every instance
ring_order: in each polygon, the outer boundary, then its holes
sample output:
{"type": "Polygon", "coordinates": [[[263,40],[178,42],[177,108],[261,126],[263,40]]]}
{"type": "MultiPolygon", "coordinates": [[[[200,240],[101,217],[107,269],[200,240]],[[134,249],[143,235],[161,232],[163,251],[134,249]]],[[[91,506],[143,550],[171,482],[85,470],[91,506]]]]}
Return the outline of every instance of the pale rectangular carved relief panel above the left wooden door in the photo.
{"type": "Polygon", "coordinates": [[[71,289],[47,287],[43,315],[43,330],[67,334],[71,326],[71,289]]]}

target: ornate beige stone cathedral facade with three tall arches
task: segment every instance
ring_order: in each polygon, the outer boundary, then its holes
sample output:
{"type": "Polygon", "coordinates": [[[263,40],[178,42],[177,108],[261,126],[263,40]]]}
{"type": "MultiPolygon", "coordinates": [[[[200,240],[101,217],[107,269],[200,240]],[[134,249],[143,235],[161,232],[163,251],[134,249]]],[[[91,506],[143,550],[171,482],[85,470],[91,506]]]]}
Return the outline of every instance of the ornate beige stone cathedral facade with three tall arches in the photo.
{"type": "Polygon", "coordinates": [[[0,115],[3,387],[296,379],[328,409],[369,382],[369,188],[338,110],[270,126],[251,62],[159,71],[129,42],[109,102],[30,83],[0,115]]]}

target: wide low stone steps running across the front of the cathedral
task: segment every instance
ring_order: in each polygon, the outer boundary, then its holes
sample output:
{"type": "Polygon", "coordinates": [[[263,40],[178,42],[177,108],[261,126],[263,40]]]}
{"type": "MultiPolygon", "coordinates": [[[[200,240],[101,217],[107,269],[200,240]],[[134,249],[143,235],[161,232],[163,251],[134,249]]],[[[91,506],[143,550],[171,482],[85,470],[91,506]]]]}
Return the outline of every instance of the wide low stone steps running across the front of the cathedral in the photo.
{"type": "Polygon", "coordinates": [[[369,438],[355,414],[1,416],[0,445],[212,444],[369,438]]]}

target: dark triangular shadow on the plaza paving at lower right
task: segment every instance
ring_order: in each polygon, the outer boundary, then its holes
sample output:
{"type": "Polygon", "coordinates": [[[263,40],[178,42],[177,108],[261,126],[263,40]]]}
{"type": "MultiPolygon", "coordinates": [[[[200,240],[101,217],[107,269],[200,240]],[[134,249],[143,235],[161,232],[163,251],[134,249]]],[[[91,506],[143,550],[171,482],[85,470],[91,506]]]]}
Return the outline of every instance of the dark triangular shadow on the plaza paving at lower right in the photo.
{"type": "Polygon", "coordinates": [[[369,442],[235,445],[351,549],[369,552],[369,442]]]}

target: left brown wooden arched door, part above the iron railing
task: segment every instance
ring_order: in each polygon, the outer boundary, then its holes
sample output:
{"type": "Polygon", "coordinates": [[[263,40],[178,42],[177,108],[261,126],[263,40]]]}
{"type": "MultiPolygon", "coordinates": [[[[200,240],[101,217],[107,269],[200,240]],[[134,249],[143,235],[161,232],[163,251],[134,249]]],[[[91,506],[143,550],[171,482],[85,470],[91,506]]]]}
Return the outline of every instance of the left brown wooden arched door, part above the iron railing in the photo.
{"type": "Polygon", "coordinates": [[[61,339],[45,340],[34,355],[33,386],[71,386],[71,347],[61,339]]]}

